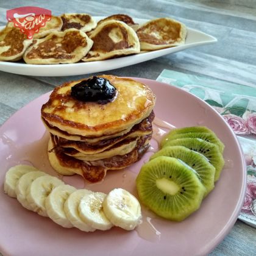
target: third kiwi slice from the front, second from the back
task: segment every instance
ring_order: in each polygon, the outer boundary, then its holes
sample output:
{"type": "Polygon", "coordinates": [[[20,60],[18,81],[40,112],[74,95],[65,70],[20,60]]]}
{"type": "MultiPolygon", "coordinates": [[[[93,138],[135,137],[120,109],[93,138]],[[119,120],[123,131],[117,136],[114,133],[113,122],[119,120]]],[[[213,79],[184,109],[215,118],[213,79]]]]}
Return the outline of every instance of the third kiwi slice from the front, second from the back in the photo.
{"type": "Polygon", "coordinates": [[[164,148],[166,146],[184,146],[190,150],[201,153],[208,158],[209,163],[215,167],[215,181],[219,179],[221,170],[224,166],[224,158],[222,157],[218,146],[215,144],[200,138],[179,138],[168,141],[164,148]]]}

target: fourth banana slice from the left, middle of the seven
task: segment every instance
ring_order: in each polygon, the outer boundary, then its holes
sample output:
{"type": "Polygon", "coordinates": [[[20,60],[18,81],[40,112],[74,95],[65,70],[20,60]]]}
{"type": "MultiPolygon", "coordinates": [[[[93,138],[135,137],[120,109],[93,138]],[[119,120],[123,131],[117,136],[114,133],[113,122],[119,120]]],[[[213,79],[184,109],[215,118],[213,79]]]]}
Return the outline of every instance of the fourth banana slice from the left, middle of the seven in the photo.
{"type": "Polygon", "coordinates": [[[45,207],[49,218],[62,227],[73,227],[73,224],[66,216],[64,204],[69,195],[76,191],[76,188],[69,185],[60,185],[54,188],[46,197],[45,207]]]}

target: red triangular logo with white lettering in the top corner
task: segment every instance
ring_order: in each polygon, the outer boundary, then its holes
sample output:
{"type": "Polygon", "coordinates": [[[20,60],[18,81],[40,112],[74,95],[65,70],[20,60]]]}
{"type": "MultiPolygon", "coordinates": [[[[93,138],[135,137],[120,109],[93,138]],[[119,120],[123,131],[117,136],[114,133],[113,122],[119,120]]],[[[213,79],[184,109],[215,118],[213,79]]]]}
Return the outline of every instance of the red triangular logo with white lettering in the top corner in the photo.
{"type": "Polygon", "coordinates": [[[7,21],[12,21],[29,39],[51,20],[51,15],[51,10],[34,6],[19,7],[6,12],[7,21]]]}

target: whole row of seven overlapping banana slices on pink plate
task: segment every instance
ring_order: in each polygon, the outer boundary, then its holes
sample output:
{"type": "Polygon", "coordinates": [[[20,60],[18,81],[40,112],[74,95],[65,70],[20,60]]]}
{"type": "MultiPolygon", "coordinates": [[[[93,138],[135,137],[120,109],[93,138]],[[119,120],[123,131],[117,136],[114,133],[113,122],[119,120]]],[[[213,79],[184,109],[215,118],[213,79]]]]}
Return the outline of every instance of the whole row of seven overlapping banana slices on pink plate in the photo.
{"type": "Polygon", "coordinates": [[[48,216],[62,227],[85,232],[113,226],[133,230],[141,219],[140,203],[123,188],[108,194],[77,190],[32,166],[10,168],[5,175],[4,191],[28,210],[48,216]]]}

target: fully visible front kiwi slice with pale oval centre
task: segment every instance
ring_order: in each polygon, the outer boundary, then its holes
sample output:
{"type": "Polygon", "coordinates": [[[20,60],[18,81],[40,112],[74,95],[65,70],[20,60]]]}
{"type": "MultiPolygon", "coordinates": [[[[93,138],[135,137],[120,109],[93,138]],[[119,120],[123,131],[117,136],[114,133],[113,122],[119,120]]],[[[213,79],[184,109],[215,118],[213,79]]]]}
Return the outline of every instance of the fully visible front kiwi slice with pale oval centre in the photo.
{"type": "Polygon", "coordinates": [[[196,211],[205,188],[197,175],[179,159],[160,156],[145,163],[136,179],[140,201],[154,213],[182,221],[196,211]]]}

